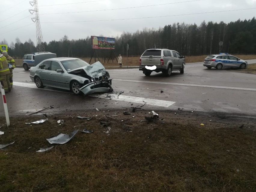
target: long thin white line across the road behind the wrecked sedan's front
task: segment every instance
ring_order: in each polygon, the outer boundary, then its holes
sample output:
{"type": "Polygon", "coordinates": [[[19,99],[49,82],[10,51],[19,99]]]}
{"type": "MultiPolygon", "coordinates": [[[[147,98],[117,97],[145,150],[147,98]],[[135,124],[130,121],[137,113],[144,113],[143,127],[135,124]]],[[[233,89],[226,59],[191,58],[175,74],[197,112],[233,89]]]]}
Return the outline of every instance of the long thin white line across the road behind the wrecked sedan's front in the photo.
{"type": "Polygon", "coordinates": [[[214,85],[198,85],[198,84],[184,84],[184,83],[166,83],[166,82],[155,82],[155,81],[136,81],[136,80],[126,80],[126,79],[113,79],[114,81],[130,81],[130,82],[140,82],[140,83],[155,83],[155,84],[168,84],[168,85],[181,85],[181,86],[195,86],[195,87],[212,87],[212,88],[224,88],[224,89],[239,89],[239,90],[250,90],[256,91],[253,88],[243,88],[243,87],[224,87],[224,86],[214,86],[214,85]]]}

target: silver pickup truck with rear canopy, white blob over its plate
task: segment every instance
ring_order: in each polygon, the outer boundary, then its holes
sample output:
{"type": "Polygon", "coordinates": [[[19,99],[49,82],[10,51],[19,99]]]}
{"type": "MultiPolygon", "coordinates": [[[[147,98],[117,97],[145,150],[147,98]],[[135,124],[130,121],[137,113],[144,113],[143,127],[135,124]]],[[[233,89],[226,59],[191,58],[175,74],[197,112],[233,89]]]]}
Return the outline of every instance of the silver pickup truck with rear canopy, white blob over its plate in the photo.
{"type": "Polygon", "coordinates": [[[139,71],[149,76],[152,71],[163,72],[170,76],[172,71],[184,73],[185,56],[175,50],[147,49],[139,59],[139,71]]]}

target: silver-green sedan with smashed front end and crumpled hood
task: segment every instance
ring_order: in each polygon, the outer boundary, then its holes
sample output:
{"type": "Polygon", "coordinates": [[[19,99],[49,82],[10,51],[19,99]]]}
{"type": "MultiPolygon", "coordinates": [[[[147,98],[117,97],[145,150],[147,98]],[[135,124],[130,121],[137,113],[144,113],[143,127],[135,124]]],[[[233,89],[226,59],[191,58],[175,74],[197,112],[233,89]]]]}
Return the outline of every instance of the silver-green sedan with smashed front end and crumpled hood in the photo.
{"type": "Polygon", "coordinates": [[[90,65],[78,58],[46,59],[31,67],[29,76],[38,88],[71,90],[75,95],[113,91],[112,78],[100,62],[90,65]]]}

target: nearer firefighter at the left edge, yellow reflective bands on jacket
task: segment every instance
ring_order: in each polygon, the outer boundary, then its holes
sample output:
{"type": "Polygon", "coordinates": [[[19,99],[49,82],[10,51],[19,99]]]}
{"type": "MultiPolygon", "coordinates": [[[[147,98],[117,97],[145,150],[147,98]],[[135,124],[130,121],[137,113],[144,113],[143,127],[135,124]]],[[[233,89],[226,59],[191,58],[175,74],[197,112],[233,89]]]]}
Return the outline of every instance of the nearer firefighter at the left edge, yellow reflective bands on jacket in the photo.
{"type": "Polygon", "coordinates": [[[2,54],[0,54],[0,81],[3,82],[3,89],[5,90],[5,93],[11,91],[10,70],[7,59],[2,54]]]}

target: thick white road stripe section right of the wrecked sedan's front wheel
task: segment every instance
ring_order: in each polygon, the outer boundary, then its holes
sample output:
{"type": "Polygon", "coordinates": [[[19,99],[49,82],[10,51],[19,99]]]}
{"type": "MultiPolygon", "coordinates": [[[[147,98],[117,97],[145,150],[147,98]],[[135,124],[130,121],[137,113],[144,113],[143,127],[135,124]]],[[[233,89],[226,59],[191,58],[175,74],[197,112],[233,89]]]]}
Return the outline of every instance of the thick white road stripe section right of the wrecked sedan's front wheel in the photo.
{"type": "Polygon", "coordinates": [[[169,107],[170,105],[174,104],[175,102],[172,101],[163,101],[163,100],[158,100],[158,99],[147,99],[147,98],[142,98],[142,97],[133,97],[133,96],[125,96],[125,95],[116,95],[116,94],[92,94],[90,96],[93,97],[99,97],[99,98],[104,98],[104,99],[114,99],[117,101],[126,101],[126,102],[133,102],[133,103],[141,103],[144,104],[143,101],[147,103],[147,105],[156,105],[156,106],[161,106],[161,107],[169,107]],[[108,98],[106,96],[111,96],[111,98],[108,98]],[[117,97],[118,96],[118,97],[117,97]]]}

